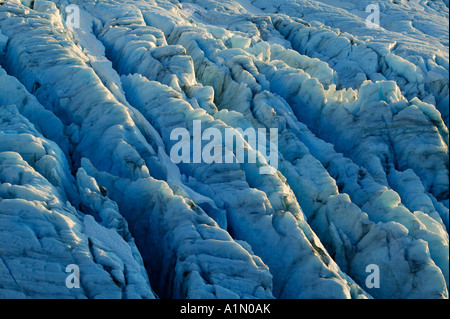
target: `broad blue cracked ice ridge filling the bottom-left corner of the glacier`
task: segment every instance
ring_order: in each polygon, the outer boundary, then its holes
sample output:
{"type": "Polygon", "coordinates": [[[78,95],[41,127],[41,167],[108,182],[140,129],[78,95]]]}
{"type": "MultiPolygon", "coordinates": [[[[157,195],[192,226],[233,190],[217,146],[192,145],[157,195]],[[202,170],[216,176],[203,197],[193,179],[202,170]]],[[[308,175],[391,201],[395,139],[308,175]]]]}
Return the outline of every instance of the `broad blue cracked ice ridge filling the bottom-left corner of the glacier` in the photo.
{"type": "Polygon", "coordinates": [[[154,298],[132,243],[67,201],[68,192],[72,203],[85,198],[73,194],[75,183],[58,146],[15,106],[3,106],[0,113],[2,298],[154,298]],[[66,286],[72,264],[80,269],[82,289],[66,286]]]}

